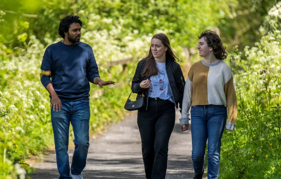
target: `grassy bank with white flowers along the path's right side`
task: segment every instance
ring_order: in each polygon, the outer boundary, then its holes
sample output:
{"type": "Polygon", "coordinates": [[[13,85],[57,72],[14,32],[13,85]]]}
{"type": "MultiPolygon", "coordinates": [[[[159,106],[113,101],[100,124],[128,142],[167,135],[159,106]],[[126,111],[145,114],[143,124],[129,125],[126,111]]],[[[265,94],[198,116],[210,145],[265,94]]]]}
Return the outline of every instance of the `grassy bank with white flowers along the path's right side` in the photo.
{"type": "Polygon", "coordinates": [[[236,130],[223,135],[220,178],[281,177],[280,6],[268,12],[260,42],[245,47],[246,60],[234,55],[239,112],[236,130]]]}

